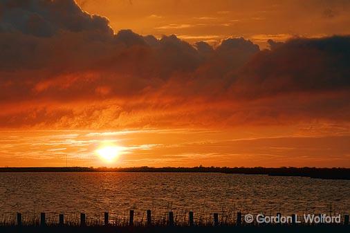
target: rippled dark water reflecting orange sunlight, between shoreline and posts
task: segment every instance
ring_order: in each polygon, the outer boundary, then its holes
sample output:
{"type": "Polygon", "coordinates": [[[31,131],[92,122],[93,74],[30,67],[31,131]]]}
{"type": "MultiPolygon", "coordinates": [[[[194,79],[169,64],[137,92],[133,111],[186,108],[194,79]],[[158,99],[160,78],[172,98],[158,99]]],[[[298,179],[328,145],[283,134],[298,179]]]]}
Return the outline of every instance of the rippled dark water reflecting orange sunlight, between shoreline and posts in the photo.
{"type": "Polygon", "coordinates": [[[349,214],[350,181],[199,173],[1,173],[0,209],[101,219],[147,209],[249,214],[349,214]]]}

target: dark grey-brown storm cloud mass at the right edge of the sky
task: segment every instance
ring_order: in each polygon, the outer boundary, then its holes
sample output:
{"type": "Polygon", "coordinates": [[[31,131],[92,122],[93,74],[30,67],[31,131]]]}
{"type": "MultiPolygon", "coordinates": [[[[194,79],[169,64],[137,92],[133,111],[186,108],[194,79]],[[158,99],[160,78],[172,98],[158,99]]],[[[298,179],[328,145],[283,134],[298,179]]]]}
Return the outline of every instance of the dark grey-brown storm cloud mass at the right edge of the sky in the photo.
{"type": "Polygon", "coordinates": [[[270,41],[252,57],[233,88],[252,97],[288,92],[349,91],[350,37],[270,41]]]}

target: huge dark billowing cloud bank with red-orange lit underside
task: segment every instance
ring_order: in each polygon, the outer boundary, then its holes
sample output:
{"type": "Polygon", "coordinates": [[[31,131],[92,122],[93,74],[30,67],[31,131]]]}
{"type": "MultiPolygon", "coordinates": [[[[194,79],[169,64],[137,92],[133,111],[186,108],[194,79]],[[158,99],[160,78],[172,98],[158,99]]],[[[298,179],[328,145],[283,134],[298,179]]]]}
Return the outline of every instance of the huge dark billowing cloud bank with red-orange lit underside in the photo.
{"type": "Polygon", "coordinates": [[[349,123],[350,37],[212,47],[114,33],[73,0],[0,3],[0,127],[349,123]]]}

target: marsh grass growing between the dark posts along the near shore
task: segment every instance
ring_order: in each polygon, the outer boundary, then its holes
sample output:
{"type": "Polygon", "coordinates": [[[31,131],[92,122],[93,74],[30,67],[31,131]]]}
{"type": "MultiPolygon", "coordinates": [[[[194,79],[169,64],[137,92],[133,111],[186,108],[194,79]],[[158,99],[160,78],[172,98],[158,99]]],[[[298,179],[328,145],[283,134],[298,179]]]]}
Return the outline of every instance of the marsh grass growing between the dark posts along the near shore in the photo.
{"type": "MultiPolygon", "coordinates": [[[[166,227],[169,225],[168,211],[156,211],[152,209],[151,212],[151,226],[152,227],[166,227]]],[[[188,211],[175,211],[174,214],[174,226],[175,227],[189,227],[189,212],[188,211]]],[[[237,224],[237,213],[232,209],[218,213],[218,226],[221,227],[233,227],[237,224]]],[[[266,214],[270,216],[270,214],[266,214]]],[[[276,216],[277,214],[274,214],[276,216]]],[[[214,225],[214,213],[194,212],[194,224],[195,227],[212,227],[214,225]]],[[[48,227],[59,226],[59,213],[46,213],[45,225],[48,227]]],[[[21,225],[25,227],[38,227],[41,224],[40,214],[35,213],[21,213],[21,225]]],[[[343,225],[344,215],[342,216],[341,223],[333,225],[343,225]]],[[[10,216],[0,216],[0,227],[13,227],[17,225],[17,214],[11,214],[10,216]]],[[[66,227],[78,227],[80,226],[80,214],[66,213],[64,214],[64,226],[66,227]]],[[[129,227],[129,213],[121,215],[109,213],[109,227],[129,227]]],[[[261,225],[279,225],[275,224],[259,224],[259,223],[245,223],[244,214],[241,215],[241,225],[246,226],[261,226],[261,225]]],[[[293,225],[293,223],[284,223],[282,225],[293,225]]],[[[296,225],[315,225],[310,223],[300,223],[296,225]]],[[[318,224],[318,225],[326,225],[318,224]]],[[[329,224],[327,224],[329,225],[329,224]]],[[[104,213],[95,216],[86,215],[86,226],[101,227],[104,226],[104,213]]],[[[135,212],[133,216],[134,227],[147,226],[147,214],[145,212],[135,212]]]]}

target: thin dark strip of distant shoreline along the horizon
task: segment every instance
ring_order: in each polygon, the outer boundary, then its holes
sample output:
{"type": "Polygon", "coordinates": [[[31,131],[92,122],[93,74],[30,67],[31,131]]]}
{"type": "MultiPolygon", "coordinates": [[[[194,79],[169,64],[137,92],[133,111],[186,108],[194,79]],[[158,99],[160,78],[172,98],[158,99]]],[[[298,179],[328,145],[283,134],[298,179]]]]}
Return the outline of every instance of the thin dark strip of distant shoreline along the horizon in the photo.
{"type": "Polygon", "coordinates": [[[1,172],[196,172],[268,176],[302,176],[333,180],[350,180],[349,168],[315,167],[0,167],[1,172]]]}

